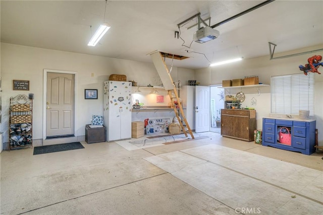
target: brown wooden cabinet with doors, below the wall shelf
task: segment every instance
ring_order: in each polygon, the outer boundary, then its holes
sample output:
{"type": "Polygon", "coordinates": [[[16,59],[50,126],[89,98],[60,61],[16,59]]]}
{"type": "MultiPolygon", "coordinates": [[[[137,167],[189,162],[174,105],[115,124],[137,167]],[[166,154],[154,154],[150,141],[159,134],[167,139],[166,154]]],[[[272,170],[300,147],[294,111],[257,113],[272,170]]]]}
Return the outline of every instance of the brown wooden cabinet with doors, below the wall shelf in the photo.
{"type": "Polygon", "coordinates": [[[255,110],[221,110],[221,135],[252,141],[256,129],[255,110]]]}

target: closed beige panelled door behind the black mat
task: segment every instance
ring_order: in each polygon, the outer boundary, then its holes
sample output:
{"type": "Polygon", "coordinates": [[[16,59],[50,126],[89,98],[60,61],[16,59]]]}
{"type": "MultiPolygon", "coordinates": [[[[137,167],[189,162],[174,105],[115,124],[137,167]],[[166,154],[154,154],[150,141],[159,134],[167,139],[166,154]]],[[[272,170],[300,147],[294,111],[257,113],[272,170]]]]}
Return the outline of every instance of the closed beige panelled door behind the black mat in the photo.
{"type": "Polygon", "coordinates": [[[46,136],[74,134],[74,75],[47,73],[46,136]]]}

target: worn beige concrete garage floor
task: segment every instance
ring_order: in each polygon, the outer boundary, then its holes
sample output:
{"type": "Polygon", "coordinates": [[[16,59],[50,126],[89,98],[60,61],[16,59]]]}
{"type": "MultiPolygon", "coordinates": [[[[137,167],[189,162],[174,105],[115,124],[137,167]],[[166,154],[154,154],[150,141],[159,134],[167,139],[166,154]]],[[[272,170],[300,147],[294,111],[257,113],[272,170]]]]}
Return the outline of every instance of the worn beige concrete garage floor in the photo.
{"type": "Polygon", "coordinates": [[[323,214],[323,154],[207,138],[1,153],[1,214],[323,214]]]}

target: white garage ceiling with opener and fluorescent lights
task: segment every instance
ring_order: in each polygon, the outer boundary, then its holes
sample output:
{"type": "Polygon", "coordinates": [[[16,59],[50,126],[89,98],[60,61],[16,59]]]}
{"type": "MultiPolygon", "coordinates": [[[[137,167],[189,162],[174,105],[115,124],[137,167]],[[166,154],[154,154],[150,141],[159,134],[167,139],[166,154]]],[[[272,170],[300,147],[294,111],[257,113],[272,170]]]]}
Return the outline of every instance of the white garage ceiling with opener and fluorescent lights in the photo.
{"type": "MultiPolygon", "coordinates": [[[[243,56],[269,55],[321,45],[323,1],[274,1],[229,21],[217,29],[220,36],[192,42],[200,13],[210,25],[220,23],[264,1],[0,1],[1,41],[19,45],[120,59],[151,62],[155,50],[188,56],[174,66],[197,69],[210,62],[243,56]],[[87,46],[98,26],[112,27],[95,47],[87,46]],[[92,26],[92,27],[90,27],[92,26]]],[[[203,25],[202,25],[203,26],[203,25]]],[[[269,58],[269,57],[268,57],[269,58]]],[[[166,60],[168,64],[172,59],[166,60]]]]}

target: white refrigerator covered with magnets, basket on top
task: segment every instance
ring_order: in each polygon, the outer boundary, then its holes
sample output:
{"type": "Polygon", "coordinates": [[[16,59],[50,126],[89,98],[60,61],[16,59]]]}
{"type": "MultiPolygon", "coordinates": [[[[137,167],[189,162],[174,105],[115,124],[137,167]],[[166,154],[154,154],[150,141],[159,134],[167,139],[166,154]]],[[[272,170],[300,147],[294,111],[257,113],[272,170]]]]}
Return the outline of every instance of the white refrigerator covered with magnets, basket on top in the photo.
{"type": "Polygon", "coordinates": [[[131,138],[131,82],[103,83],[103,121],[106,141],[131,138]]]}

